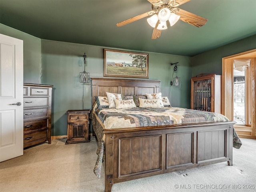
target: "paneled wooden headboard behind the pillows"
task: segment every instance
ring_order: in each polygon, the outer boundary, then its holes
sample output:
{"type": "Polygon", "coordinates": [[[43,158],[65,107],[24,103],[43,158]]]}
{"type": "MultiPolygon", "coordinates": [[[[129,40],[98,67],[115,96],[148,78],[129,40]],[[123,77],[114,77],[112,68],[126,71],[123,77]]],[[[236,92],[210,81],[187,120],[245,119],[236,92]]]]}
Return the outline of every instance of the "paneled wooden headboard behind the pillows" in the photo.
{"type": "Polygon", "coordinates": [[[159,80],[137,80],[92,77],[92,105],[95,96],[106,96],[106,92],[122,95],[144,95],[159,92],[159,80]]]}

